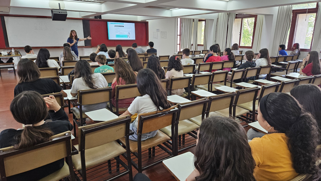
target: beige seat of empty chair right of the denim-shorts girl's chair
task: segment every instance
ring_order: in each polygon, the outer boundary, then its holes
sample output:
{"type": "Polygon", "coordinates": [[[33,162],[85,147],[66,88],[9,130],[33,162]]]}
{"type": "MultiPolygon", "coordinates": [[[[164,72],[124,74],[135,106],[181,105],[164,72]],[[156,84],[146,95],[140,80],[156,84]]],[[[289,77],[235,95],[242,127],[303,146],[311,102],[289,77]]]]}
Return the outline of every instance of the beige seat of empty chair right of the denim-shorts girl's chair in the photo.
{"type": "MultiPolygon", "coordinates": [[[[182,135],[193,130],[199,128],[199,125],[186,120],[182,120],[178,122],[178,135],[182,135]]],[[[165,128],[160,129],[163,133],[167,134],[167,136],[172,137],[172,125],[166,126],[165,128]]]]}

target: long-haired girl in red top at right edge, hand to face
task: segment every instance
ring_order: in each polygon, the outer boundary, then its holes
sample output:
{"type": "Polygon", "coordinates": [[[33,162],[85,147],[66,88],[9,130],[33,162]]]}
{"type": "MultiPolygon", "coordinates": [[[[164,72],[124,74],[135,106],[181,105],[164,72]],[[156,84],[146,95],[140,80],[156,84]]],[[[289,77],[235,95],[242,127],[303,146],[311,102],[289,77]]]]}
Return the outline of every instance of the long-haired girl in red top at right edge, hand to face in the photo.
{"type": "Polygon", "coordinates": [[[321,74],[321,62],[317,51],[310,51],[303,59],[300,74],[304,76],[314,76],[321,74]]]}

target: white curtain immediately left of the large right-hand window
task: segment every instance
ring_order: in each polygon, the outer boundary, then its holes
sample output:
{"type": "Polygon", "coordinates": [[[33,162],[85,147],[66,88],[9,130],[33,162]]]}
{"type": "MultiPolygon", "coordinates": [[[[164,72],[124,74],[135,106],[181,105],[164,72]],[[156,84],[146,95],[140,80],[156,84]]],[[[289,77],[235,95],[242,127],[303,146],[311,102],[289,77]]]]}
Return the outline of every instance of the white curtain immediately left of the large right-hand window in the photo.
{"type": "Polygon", "coordinates": [[[286,43],[286,38],[291,25],[292,5],[280,6],[273,39],[273,47],[270,56],[279,55],[279,45],[286,43]]]}

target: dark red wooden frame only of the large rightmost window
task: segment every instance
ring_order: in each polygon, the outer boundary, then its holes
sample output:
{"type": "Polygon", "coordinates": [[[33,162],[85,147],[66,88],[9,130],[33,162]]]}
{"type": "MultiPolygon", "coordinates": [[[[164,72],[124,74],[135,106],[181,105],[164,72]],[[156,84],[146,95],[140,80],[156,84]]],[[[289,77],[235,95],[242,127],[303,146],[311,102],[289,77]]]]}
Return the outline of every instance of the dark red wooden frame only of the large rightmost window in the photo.
{"type": "MultiPolygon", "coordinates": [[[[288,47],[286,48],[287,51],[292,51],[292,46],[293,46],[293,40],[294,40],[294,33],[295,33],[295,29],[297,27],[297,18],[299,14],[312,14],[315,13],[316,14],[316,19],[317,20],[317,12],[318,12],[318,3],[317,3],[317,7],[315,8],[308,8],[308,9],[295,9],[292,10],[292,18],[291,18],[291,26],[290,26],[290,34],[289,34],[289,41],[288,41],[288,47]],[[307,11],[308,10],[308,11],[307,11]]],[[[312,41],[311,41],[311,45],[309,49],[302,49],[300,48],[300,51],[311,51],[312,48],[312,43],[313,43],[313,37],[314,37],[314,31],[316,28],[316,22],[314,22],[314,27],[313,27],[313,33],[312,33],[312,41]]]]}

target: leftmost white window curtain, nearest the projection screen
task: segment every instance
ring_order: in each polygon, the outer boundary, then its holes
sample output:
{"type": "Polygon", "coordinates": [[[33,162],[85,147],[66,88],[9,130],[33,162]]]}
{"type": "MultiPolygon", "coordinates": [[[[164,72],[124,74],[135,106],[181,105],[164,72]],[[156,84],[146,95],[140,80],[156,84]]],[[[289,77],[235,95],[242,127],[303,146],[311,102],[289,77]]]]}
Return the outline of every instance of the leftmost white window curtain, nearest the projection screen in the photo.
{"type": "Polygon", "coordinates": [[[192,29],[193,19],[181,18],[181,49],[192,49],[192,29]]]}

